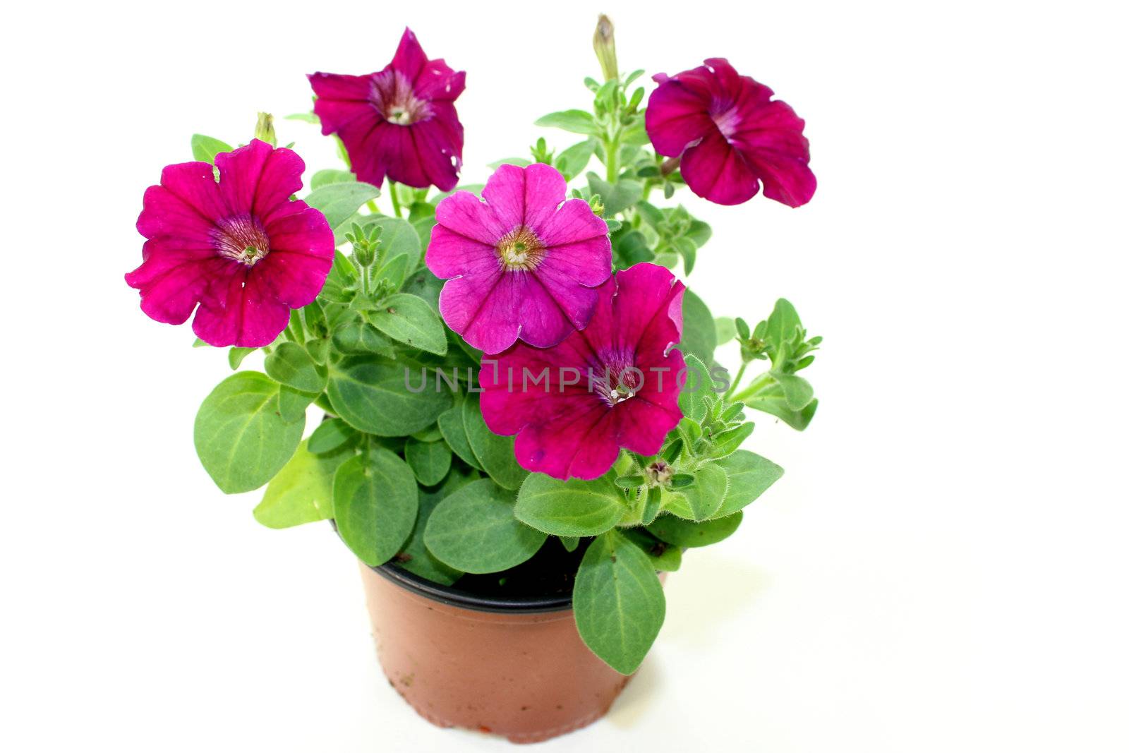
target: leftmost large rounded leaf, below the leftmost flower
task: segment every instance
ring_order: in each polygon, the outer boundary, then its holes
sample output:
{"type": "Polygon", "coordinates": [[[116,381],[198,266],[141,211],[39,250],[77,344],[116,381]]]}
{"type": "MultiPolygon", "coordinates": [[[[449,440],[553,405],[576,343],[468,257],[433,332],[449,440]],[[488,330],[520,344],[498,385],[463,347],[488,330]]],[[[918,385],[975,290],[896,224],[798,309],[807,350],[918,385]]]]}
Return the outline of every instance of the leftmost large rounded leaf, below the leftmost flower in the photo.
{"type": "Polygon", "coordinates": [[[279,385],[265,374],[239,371],[219,383],[196,413],[196,454],[224,492],[257,489],[294,455],[305,420],[279,414],[279,385]]]}

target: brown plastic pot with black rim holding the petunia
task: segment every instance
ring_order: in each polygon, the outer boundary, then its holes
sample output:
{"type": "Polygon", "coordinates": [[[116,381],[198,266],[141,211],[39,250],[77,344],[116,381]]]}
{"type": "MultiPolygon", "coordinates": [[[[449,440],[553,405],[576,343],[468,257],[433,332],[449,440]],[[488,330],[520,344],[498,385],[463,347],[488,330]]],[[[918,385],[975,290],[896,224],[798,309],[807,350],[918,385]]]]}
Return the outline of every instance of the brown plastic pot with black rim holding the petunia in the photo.
{"type": "Polygon", "coordinates": [[[607,713],[630,680],[580,640],[568,595],[483,598],[391,564],[361,579],[388,682],[440,727],[536,743],[607,713]]]}

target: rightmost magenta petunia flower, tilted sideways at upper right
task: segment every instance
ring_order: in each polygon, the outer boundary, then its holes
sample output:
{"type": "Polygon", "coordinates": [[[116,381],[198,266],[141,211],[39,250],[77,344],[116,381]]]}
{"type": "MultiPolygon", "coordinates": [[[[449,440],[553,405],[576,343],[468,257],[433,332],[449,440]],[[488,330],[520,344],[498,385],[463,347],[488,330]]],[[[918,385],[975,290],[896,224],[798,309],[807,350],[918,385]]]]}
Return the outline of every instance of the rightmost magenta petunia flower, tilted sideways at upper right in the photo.
{"type": "Polygon", "coordinates": [[[647,104],[647,135],[655,151],[681,155],[682,177],[699,196],[718,204],[764,195],[799,207],[815,193],[807,167],[804,121],[772,89],[738,76],[724,58],[668,77],[647,104]]]}

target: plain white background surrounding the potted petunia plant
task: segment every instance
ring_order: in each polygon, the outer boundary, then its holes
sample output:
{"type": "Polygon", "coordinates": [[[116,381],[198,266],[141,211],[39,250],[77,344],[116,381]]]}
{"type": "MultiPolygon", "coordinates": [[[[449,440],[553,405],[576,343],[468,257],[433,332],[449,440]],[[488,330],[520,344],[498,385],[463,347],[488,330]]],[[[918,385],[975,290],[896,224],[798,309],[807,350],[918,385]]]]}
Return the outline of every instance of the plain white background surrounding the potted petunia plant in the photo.
{"type": "MultiPolygon", "coordinates": [[[[464,177],[621,68],[724,55],[807,120],[814,201],[738,208],[690,283],[789,297],[825,347],[808,431],[741,531],[686,555],[609,717],[540,750],[1126,751],[1124,17],[1115,3],[32,3],[3,24],[0,747],[506,751],[380,676],[327,525],[273,532],[192,449],[228,369],[122,274],[193,132],[308,108],[405,24],[467,71],[464,177]]],[[[12,15],[15,14],[15,15],[12,15]]],[[[313,168],[316,129],[279,121],[313,168]]],[[[732,356],[732,353],[727,353],[732,356]]]]}

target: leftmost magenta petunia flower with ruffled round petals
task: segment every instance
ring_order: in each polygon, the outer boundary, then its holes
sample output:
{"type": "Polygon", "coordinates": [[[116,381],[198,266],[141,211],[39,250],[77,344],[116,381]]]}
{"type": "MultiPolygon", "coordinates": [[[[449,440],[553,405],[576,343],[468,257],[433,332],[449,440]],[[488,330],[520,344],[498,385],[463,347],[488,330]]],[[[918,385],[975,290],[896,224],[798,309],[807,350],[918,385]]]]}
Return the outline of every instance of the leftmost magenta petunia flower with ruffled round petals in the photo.
{"type": "Polygon", "coordinates": [[[161,170],[138,218],[143,261],[125,275],[141,310],[183,324],[195,308],[192,330],[217,347],[273,342],[333,265],[325,216],[290,200],[305,167],[291,150],[255,139],[216,155],[219,182],[208,163],[161,170]]]}

